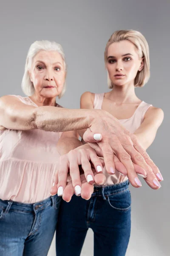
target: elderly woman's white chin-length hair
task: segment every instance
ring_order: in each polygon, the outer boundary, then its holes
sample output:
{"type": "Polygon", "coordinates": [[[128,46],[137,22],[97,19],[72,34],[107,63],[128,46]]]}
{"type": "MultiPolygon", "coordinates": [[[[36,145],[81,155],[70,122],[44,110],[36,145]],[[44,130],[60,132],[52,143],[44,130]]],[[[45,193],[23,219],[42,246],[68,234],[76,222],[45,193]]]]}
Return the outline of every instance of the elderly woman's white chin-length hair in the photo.
{"type": "MultiPolygon", "coordinates": [[[[26,65],[25,65],[25,72],[24,72],[23,80],[22,80],[22,90],[23,90],[23,93],[25,93],[27,96],[31,96],[35,92],[34,85],[30,80],[28,71],[31,69],[31,64],[32,64],[32,60],[33,60],[34,56],[41,50],[59,52],[64,61],[65,74],[67,71],[66,63],[65,63],[65,55],[64,55],[62,46],[60,44],[57,44],[54,41],[48,41],[48,40],[35,41],[33,44],[31,44],[31,46],[28,50],[28,54],[27,54],[27,58],[26,58],[26,65]]],[[[63,85],[62,92],[58,96],[59,99],[64,95],[65,90],[66,90],[66,82],[63,85]]]]}

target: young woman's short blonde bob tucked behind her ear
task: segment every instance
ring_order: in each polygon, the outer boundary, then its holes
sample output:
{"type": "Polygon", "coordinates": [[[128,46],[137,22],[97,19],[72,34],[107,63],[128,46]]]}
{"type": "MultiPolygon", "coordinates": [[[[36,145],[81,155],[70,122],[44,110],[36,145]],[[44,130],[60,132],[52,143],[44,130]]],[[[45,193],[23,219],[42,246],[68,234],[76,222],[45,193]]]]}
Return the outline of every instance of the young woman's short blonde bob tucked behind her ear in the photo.
{"type": "MultiPolygon", "coordinates": [[[[115,43],[123,40],[128,40],[136,47],[139,57],[143,58],[144,67],[141,71],[138,71],[135,78],[135,87],[142,87],[150,78],[150,60],[149,60],[149,46],[144,36],[136,30],[117,30],[115,31],[108,40],[105,48],[105,64],[108,57],[108,47],[115,43]]],[[[108,75],[108,87],[113,88],[113,84],[108,75]]]]}

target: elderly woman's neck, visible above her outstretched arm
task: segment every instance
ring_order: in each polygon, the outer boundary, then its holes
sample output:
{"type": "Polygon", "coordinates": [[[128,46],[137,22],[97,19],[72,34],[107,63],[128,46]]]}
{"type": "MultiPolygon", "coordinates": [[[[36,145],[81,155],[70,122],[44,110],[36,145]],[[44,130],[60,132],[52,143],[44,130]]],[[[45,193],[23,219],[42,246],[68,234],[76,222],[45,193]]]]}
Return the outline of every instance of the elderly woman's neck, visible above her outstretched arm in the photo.
{"type": "Polygon", "coordinates": [[[29,97],[37,106],[56,106],[56,97],[54,98],[45,98],[43,96],[33,94],[29,97]]]}

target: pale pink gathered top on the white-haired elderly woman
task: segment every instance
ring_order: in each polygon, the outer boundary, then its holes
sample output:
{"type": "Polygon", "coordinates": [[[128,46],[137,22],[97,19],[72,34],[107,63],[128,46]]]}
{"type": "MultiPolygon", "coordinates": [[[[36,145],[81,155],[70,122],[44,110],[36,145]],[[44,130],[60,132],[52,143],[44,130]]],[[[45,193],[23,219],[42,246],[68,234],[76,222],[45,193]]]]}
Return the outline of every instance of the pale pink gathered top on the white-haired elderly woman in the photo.
{"type": "MultiPolygon", "coordinates": [[[[16,97],[37,106],[29,97],[16,97]]],[[[1,200],[35,203],[50,196],[61,134],[38,129],[0,131],[1,200]]]]}

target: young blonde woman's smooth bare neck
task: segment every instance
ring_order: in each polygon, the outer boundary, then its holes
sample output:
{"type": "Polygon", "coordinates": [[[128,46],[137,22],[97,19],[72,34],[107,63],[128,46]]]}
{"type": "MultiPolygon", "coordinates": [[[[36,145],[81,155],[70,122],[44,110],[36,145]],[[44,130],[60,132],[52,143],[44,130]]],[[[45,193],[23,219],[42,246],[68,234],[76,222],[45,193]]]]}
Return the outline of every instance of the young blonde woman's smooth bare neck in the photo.
{"type": "Polygon", "coordinates": [[[135,94],[134,84],[122,86],[114,84],[113,89],[108,94],[108,98],[118,104],[139,102],[139,98],[135,94]]]}

